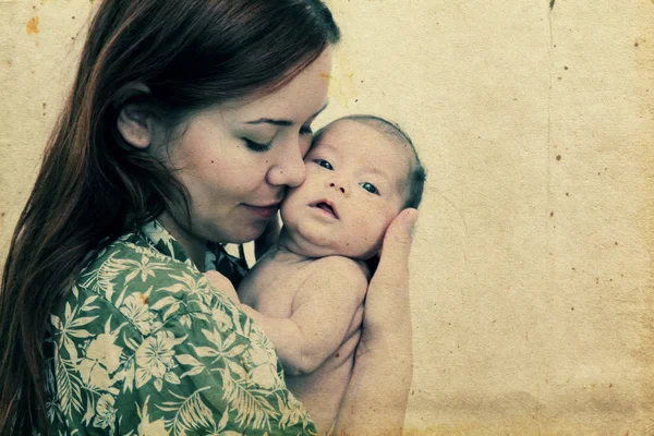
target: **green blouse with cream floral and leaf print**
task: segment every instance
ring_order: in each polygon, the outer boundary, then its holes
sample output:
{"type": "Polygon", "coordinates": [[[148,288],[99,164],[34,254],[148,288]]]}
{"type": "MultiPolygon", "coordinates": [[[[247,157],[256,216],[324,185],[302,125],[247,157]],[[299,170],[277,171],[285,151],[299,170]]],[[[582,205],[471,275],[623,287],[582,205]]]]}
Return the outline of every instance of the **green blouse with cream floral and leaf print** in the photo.
{"type": "Polygon", "coordinates": [[[316,433],[268,338],[156,221],[92,259],[50,320],[52,435],[316,433]]]}

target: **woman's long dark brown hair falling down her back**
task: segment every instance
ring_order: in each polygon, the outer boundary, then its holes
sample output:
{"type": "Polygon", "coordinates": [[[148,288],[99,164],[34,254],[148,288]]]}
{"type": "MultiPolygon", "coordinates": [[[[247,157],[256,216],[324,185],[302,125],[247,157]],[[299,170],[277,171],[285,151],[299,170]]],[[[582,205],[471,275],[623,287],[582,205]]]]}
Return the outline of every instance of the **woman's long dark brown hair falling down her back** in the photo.
{"type": "Polygon", "coordinates": [[[0,434],[47,433],[48,315],[89,253],[185,191],[126,145],[137,102],[171,131],[193,111],[274,90],[339,39],[320,0],[106,0],[19,219],[0,289],[0,434]],[[144,84],[149,92],[134,92],[144,84]]]}

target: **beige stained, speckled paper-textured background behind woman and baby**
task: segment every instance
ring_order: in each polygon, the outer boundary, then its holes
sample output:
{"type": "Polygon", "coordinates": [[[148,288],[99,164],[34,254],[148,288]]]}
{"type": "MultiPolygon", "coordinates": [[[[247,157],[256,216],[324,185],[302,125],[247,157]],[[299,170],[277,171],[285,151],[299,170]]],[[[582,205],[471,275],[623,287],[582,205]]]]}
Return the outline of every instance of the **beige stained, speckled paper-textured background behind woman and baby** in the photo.
{"type": "MultiPolygon", "coordinates": [[[[429,171],[408,432],[654,435],[654,1],[329,3],[319,122],[393,119],[429,171]]],[[[92,7],[0,0],[0,258],[92,7]]]]}

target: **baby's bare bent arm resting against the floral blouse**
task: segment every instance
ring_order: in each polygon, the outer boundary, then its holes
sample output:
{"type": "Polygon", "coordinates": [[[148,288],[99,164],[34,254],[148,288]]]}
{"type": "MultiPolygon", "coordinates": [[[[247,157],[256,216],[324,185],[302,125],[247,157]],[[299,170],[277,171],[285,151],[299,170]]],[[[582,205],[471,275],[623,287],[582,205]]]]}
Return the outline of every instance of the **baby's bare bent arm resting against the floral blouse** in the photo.
{"type": "Polygon", "coordinates": [[[308,374],[343,342],[365,296],[366,276],[365,266],[350,258],[319,258],[298,291],[289,318],[242,308],[272,341],[288,374],[308,374]]]}

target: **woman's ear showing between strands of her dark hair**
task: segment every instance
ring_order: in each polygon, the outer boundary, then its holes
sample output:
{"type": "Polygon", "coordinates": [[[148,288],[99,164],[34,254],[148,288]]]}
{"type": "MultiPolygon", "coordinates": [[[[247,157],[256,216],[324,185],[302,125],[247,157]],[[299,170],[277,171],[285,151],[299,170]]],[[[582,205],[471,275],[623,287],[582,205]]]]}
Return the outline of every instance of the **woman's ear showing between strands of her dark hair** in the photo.
{"type": "Polygon", "coordinates": [[[147,94],[149,88],[146,85],[133,84],[122,89],[119,97],[119,100],[126,102],[121,105],[118,113],[118,131],[128,144],[138,149],[147,148],[153,141],[152,113],[143,99],[137,97],[147,94]]]}

